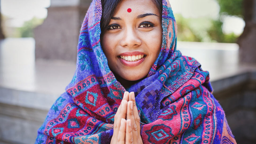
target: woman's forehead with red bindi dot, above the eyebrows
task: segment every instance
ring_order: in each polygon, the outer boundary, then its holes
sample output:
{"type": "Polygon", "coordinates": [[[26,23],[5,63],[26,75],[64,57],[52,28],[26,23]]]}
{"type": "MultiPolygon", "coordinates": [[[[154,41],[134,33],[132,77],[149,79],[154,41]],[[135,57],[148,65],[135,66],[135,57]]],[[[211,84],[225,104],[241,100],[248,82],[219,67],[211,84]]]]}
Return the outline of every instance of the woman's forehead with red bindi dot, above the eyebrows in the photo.
{"type": "Polygon", "coordinates": [[[118,5],[114,17],[137,16],[145,13],[153,13],[159,16],[157,6],[152,0],[123,0],[118,5]]]}

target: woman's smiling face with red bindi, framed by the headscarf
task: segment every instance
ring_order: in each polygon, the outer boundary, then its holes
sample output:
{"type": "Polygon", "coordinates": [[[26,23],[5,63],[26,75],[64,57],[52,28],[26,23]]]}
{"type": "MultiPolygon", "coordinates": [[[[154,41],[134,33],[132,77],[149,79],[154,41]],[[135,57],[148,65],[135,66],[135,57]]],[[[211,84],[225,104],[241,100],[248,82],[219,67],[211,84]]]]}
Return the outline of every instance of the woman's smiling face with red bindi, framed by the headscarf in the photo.
{"type": "Polygon", "coordinates": [[[162,45],[162,15],[151,0],[123,0],[102,34],[110,70],[128,81],[144,78],[162,45]]]}

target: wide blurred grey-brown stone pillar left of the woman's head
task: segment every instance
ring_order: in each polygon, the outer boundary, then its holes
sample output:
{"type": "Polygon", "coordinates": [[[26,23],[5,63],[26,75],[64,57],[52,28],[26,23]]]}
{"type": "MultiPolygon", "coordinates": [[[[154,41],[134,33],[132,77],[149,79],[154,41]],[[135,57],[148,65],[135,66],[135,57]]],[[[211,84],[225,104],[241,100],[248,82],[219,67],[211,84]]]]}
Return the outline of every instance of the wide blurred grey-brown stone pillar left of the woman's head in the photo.
{"type": "Polygon", "coordinates": [[[76,61],[79,31],[91,0],[51,0],[48,16],[34,29],[35,58],[76,61]]]}

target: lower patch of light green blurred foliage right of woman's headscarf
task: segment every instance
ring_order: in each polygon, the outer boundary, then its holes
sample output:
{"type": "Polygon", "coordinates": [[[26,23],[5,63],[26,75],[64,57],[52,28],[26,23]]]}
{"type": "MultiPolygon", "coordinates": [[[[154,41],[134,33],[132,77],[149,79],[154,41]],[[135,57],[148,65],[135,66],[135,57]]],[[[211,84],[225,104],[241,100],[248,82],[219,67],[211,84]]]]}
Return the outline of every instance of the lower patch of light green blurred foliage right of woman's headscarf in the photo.
{"type": "Polygon", "coordinates": [[[224,34],[220,19],[184,18],[175,15],[178,41],[235,43],[239,35],[224,34]]]}

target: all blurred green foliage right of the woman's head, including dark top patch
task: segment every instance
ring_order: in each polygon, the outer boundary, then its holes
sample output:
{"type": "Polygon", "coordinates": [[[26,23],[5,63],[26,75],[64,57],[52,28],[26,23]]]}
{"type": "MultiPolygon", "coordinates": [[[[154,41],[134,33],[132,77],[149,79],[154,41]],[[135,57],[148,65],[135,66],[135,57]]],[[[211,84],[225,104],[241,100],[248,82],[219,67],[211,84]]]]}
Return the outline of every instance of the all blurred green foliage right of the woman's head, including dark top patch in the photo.
{"type": "Polygon", "coordinates": [[[175,14],[178,27],[178,41],[235,43],[239,35],[224,34],[222,31],[223,15],[242,15],[242,0],[216,0],[220,11],[218,19],[184,18],[175,14]]]}

